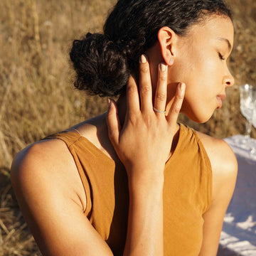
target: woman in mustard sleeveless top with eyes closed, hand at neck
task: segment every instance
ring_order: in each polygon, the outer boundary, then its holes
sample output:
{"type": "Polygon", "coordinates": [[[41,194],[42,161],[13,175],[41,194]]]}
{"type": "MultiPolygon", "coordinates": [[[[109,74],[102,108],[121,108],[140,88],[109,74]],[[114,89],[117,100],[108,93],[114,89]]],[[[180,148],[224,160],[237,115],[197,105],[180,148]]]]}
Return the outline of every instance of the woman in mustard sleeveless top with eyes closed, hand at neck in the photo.
{"type": "Polygon", "coordinates": [[[233,33],[222,0],[119,0],[104,35],[74,41],[76,87],[120,96],[14,159],[43,255],[216,255],[236,159],[176,121],[181,110],[206,122],[221,107],[233,33]]]}

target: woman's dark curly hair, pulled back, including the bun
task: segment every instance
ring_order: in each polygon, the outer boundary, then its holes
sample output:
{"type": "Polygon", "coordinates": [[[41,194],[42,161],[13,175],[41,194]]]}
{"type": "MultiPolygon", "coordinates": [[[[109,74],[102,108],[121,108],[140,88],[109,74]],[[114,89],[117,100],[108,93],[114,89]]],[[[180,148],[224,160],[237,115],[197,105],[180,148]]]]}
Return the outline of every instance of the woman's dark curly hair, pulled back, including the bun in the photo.
{"type": "Polygon", "coordinates": [[[104,34],[87,33],[75,40],[70,59],[77,73],[75,87],[95,95],[119,95],[139,56],[168,26],[186,36],[190,26],[215,14],[232,14],[223,0],[119,0],[104,25],[104,34]]]}

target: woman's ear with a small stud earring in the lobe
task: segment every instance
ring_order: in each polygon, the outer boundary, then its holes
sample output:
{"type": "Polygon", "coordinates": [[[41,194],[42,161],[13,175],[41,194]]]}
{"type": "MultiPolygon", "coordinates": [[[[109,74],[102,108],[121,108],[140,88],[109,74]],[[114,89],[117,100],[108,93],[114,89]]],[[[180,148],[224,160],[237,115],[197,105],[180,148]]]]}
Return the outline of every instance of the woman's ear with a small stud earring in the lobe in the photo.
{"type": "Polygon", "coordinates": [[[173,65],[177,39],[176,33],[171,28],[165,26],[159,29],[157,36],[164,61],[167,65],[173,65]]]}

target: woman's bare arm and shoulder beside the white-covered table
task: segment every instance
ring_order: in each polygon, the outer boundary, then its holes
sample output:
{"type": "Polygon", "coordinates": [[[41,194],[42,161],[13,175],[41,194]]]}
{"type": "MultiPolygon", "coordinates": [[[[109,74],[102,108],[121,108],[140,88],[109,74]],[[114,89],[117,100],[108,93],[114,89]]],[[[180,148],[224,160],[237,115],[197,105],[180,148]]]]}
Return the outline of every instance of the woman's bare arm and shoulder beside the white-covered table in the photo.
{"type": "Polygon", "coordinates": [[[205,134],[200,136],[213,169],[213,199],[210,209],[203,215],[203,245],[200,255],[212,256],[217,254],[223,219],[235,189],[238,164],[226,142],[205,134]]]}

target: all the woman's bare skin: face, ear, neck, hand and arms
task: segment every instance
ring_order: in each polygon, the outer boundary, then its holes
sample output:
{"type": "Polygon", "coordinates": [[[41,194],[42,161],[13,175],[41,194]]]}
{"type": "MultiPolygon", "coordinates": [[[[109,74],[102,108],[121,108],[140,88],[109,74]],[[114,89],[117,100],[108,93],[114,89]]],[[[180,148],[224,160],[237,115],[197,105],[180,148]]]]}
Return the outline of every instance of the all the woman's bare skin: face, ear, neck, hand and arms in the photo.
{"type": "MultiPolygon", "coordinates": [[[[107,114],[75,126],[107,156],[117,163],[121,160],[127,170],[130,202],[124,255],[164,255],[164,164],[178,140],[178,112],[206,122],[220,106],[219,95],[233,85],[226,61],[218,55],[221,51],[228,58],[231,49],[227,40],[233,46],[229,18],[211,16],[191,27],[186,37],[166,27],[158,36],[147,58],[142,56],[139,90],[135,80],[129,78],[126,97],[122,95],[117,104],[111,101],[107,114]],[[173,63],[170,58],[174,58],[173,63]],[[184,102],[183,86],[178,82],[186,85],[184,102]],[[154,112],[153,105],[166,109],[167,114],[154,112]]],[[[213,171],[213,200],[203,215],[200,252],[210,256],[218,250],[223,217],[235,187],[237,162],[228,144],[198,134],[213,171]]],[[[43,255],[112,255],[83,214],[85,191],[64,142],[46,140],[23,149],[14,159],[11,179],[43,255]]]]}

